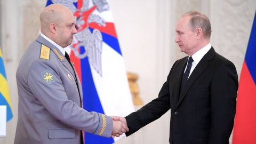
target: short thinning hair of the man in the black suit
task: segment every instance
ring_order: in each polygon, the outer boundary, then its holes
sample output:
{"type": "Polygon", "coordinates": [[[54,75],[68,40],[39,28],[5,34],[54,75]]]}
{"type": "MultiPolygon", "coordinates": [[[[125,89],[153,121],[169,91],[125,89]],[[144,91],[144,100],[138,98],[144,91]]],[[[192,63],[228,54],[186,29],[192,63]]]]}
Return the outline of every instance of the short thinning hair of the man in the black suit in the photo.
{"type": "Polygon", "coordinates": [[[212,27],[209,18],[199,11],[189,11],[182,15],[182,17],[188,15],[190,17],[189,25],[191,30],[202,28],[205,38],[211,37],[212,27]]]}

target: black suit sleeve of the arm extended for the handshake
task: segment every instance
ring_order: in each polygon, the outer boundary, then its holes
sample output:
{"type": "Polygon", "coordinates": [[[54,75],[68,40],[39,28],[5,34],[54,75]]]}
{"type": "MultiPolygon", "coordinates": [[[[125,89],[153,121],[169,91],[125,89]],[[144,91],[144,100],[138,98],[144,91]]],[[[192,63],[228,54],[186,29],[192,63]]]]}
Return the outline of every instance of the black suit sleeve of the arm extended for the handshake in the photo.
{"type": "Polygon", "coordinates": [[[137,132],[141,127],[155,121],[171,108],[169,94],[169,81],[171,72],[172,69],[169,73],[169,76],[167,76],[167,81],[163,84],[162,89],[158,94],[158,98],[147,103],[147,105],[143,106],[138,111],[135,111],[134,113],[131,113],[125,117],[127,126],[129,128],[129,132],[125,133],[126,136],[137,132]]]}

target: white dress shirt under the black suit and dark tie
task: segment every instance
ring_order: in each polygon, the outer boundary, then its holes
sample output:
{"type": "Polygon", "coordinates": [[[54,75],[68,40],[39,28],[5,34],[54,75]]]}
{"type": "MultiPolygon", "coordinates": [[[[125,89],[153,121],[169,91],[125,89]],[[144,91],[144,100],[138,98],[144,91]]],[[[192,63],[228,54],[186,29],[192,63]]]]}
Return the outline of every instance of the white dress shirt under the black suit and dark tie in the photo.
{"type": "MultiPolygon", "coordinates": [[[[196,65],[199,63],[199,61],[204,57],[204,55],[211,49],[212,45],[211,43],[207,44],[206,46],[204,46],[201,50],[197,51],[196,53],[194,53],[192,56],[193,62],[192,62],[192,66],[190,69],[190,73],[188,75],[188,77],[191,75],[192,71],[195,69],[196,65]]],[[[188,66],[188,61],[187,61],[187,66],[188,66]]],[[[184,70],[184,73],[187,69],[187,66],[184,70]]]]}

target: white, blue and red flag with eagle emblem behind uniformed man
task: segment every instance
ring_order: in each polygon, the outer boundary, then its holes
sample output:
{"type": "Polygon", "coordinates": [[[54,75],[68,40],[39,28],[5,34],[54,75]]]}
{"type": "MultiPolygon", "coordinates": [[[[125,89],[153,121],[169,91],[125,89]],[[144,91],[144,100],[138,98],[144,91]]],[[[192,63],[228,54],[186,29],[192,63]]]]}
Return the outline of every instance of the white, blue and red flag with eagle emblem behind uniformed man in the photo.
{"type": "MultiPolygon", "coordinates": [[[[76,17],[78,33],[66,48],[83,87],[83,107],[108,116],[126,116],[134,111],[124,60],[107,0],[48,0],[47,5],[67,6],[76,17]]],[[[85,143],[113,143],[85,133],[85,143]]]]}

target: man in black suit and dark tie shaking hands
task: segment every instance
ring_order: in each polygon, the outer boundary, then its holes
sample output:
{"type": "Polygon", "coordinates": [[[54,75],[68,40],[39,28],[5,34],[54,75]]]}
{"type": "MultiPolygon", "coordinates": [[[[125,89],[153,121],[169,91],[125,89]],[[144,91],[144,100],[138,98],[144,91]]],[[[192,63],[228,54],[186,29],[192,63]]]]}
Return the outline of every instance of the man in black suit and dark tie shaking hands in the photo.
{"type": "Polygon", "coordinates": [[[172,144],[226,144],[233,129],[238,78],[232,62],[210,44],[211,23],[206,15],[182,15],[175,42],[188,57],[177,60],[158,98],[123,117],[131,135],[171,109],[172,144]]]}

